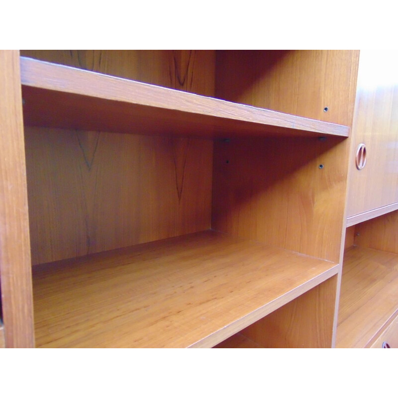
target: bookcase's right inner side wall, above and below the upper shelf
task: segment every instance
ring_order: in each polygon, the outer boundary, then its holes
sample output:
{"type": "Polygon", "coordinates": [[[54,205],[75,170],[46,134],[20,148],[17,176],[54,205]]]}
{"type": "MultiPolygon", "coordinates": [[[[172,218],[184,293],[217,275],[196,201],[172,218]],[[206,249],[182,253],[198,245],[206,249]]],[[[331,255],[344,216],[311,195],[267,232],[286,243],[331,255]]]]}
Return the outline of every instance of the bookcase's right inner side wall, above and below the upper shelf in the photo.
{"type": "MultiPolygon", "coordinates": [[[[217,51],[216,96],[351,126],[358,57],[356,50],[217,51]]],[[[231,145],[226,171],[217,143],[213,227],[338,263],[349,145],[333,138],[231,145]]]]}

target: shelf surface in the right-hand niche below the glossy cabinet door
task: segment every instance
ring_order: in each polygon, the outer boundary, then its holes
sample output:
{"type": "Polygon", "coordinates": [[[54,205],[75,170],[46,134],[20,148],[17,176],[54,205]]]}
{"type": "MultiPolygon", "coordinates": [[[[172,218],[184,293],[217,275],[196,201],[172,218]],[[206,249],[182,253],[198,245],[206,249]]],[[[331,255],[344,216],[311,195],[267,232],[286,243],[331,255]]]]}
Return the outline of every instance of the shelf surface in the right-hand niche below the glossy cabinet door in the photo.
{"type": "Polygon", "coordinates": [[[344,256],[336,347],[368,347],[398,310],[398,255],[352,247],[344,256]]]}

